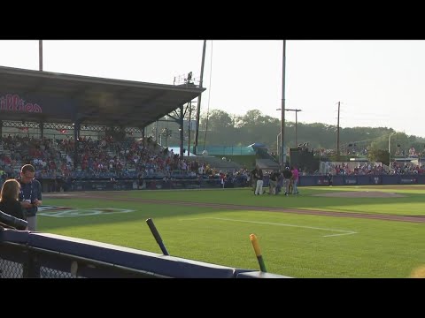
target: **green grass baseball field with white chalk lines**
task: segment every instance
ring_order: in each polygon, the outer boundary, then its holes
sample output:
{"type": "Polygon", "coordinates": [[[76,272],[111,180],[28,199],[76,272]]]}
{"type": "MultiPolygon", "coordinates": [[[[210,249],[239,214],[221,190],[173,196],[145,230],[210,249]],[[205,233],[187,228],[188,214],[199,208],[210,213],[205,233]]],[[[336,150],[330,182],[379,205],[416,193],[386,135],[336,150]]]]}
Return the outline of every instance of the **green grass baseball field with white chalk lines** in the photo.
{"type": "Polygon", "coordinates": [[[413,269],[425,264],[425,223],[301,215],[255,208],[425,218],[425,186],[300,187],[299,190],[300,195],[289,197],[254,196],[246,188],[94,192],[82,193],[79,198],[66,195],[53,198],[45,194],[44,208],[67,209],[41,211],[38,230],[161,254],[145,222],[152,218],[171,255],[259,269],[250,241],[250,234],[254,233],[267,271],[294,277],[408,277],[413,269]],[[403,197],[314,195],[348,191],[399,193],[403,197]]]}

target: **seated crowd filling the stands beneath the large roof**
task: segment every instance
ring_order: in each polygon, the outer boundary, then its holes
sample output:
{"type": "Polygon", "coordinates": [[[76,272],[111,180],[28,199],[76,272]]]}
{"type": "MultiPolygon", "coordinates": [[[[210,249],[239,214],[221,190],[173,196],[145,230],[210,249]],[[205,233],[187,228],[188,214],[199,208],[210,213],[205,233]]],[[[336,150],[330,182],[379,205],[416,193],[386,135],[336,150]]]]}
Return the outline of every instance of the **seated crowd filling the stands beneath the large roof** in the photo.
{"type": "MultiPolygon", "coordinates": [[[[220,171],[202,160],[189,161],[148,138],[115,141],[80,137],[74,164],[75,142],[43,137],[4,135],[0,143],[0,177],[16,178],[20,166],[35,166],[35,178],[218,178],[220,171]]],[[[247,170],[227,171],[228,183],[243,182],[247,170]]],[[[1,181],[1,180],[0,180],[1,181]]],[[[1,183],[1,182],[0,182],[1,183]]]]}

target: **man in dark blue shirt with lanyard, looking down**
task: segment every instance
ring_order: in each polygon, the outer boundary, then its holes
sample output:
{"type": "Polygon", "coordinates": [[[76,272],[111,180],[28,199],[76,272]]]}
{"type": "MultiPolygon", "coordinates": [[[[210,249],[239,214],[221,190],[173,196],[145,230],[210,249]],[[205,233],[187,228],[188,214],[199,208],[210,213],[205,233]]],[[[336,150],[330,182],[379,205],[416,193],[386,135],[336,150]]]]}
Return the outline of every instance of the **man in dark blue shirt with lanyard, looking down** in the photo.
{"type": "Polygon", "coordinates": [[[28,230],[36,231],[37,227],[37,211],[42,205],[42,185],[40,181],[34,178],[35,168],[31,164],[25,164],[20,170],[19,201],[27,215],[28,230]]]}

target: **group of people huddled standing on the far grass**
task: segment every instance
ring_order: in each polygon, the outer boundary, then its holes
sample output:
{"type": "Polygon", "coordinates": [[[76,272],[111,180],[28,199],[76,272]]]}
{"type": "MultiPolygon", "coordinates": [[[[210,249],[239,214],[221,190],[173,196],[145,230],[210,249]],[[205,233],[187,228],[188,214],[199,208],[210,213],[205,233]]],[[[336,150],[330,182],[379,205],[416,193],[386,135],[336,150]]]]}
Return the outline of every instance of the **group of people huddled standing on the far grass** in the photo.
{"type": "MultiPolygon", "coordinates": [[[[251,171],[252,190],[254,195],[263,194],[264,174],[259,165],[251,171]]],[[[298,194],[299,172],[297,166],[286,165],[284,169],[273,171],[269,175],[268,190],[269,194],[279,194],[282,189],[285,190],[284,195],[298,194]]]]}

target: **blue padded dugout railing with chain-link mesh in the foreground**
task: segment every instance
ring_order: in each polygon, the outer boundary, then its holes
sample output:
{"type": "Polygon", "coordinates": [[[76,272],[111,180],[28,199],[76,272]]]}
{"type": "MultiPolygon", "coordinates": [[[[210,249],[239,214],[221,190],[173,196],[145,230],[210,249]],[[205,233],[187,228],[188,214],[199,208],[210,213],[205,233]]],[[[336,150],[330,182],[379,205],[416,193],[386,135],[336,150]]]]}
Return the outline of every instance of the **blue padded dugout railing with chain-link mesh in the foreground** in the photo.
{"type": "Polygon", "coordinates": [[[0,228],[0,278],[290,278],[87,239],[0,228]]]}

